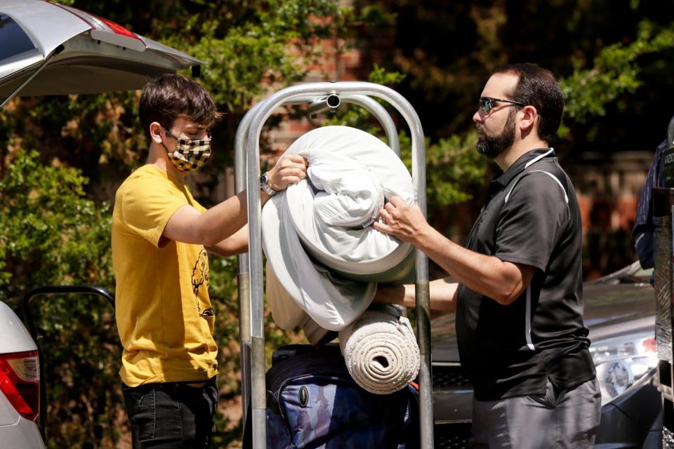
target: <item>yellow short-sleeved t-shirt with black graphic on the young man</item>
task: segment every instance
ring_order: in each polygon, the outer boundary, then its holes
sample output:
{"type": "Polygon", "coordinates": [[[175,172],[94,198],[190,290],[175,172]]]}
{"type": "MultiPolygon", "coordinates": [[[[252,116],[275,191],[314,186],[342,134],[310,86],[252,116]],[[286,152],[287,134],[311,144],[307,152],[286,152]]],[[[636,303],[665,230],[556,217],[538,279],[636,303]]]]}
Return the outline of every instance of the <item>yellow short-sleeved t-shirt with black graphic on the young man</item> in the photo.
{"type": "Polygon", "coordinates": [[[209,298],[209,259],[201,245],[159,239],[178,208],[203,213],[190,191],[146,165],[117,190],[112,213],[115,314],[124,347],[121,380],[204,381],[218,373],[209,298]]]}

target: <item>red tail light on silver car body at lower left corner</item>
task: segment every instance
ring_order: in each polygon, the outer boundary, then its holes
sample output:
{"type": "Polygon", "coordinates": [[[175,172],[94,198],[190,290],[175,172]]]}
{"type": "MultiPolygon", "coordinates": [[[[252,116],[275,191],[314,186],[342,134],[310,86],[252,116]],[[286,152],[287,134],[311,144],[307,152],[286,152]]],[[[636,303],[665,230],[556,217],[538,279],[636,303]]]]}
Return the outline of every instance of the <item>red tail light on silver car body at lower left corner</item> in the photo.
{"type": "Polygon", "coordinates": [[[37,351],[0,354],[0,391],[15,410],[34,421],[40,409],[40,370],[37,351]]]}

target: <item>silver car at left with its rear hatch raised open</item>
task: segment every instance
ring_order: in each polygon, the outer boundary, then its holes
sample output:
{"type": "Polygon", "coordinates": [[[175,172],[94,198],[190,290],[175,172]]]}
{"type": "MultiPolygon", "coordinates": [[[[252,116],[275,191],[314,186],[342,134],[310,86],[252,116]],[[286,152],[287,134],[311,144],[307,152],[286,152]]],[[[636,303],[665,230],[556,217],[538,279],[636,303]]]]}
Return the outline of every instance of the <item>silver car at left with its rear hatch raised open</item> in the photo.
{"type": "MultiPolygon", "coordinates": [[[[148,79],[201,61],[110,20],[39,0],[0,2],[0,108],[16,95],[103,93],[142,88],[148,79]]],[[[27,290],[30,286],[26,286],[27,290]]],[[[38,348],[0,302],[0,445],[44,448],[38,348]]],[[[44,419],[44,417],[43,417],[44,419]]]]}

